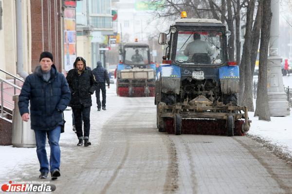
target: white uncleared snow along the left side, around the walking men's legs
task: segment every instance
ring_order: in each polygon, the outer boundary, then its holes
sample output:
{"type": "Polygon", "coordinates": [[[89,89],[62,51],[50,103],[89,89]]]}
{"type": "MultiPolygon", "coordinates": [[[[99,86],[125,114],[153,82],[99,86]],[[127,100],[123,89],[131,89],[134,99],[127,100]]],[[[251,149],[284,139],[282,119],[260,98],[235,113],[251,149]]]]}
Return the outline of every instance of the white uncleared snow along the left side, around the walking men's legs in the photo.
{"type": "MultiPolygon", "coordinates": [[[[115,85],[111,85],[111,88],[107,89],[107,111],[97,112],[95,94],[92,95],[90,138],[92,144],[96,145],[100,142],[101,130],[99,130],[99,128],[104,125],[110,116],[123,107],[124,100],[125,97],[121,97],[117,101],[115,85]]],[[[72,130],[72,111],[64,111],[64,117],[66,120],[65,132],[61,133],[59,141],[62,163],[66,163],[66,154],[70,154],[74,151],[78,143],[76,134],[72,130]]],[[[46,150],[49,159],[50,146],[48,143],[46,144],[46,150]]],[[[26,168],[29,169],[33,166],[36,171],[39,169],[36,148],[0,146],[0,153],[0,185],[8,183],[7,175],[9,174],[19,172],[21,176],[24,176],[26,174],[26,168]]],[[[18,178],[14,178],[14,180],[17,179],[18,178]]]]}

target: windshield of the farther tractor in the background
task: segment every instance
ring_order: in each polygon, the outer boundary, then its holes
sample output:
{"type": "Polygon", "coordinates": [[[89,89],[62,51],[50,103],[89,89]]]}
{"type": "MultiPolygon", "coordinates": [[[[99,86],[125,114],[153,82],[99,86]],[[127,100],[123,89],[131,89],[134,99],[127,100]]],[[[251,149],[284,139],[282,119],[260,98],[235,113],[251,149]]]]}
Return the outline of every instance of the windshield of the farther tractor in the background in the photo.
{"type": "Polygon", "coordinates": [[[127,65],[147,65],[149,48],[147,47],[125,47],[124,64],[127,65]]]}

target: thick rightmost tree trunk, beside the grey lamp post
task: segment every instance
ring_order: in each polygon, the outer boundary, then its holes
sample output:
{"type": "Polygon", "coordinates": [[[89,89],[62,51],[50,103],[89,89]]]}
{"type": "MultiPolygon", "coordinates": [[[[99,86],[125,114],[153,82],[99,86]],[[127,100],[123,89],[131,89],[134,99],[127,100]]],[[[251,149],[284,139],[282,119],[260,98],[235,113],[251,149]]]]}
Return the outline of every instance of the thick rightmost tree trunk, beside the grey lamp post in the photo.
{"type": "Polygon", "coordinates": [[[271,20],[271,0],[265,0],[265,3],[263,3],[263,16],[260,36],[259,69],[255,112],[255,116],[258,116],[258,120],[265,121],[271,120],[268,102],[268,50],[271,20]]]}

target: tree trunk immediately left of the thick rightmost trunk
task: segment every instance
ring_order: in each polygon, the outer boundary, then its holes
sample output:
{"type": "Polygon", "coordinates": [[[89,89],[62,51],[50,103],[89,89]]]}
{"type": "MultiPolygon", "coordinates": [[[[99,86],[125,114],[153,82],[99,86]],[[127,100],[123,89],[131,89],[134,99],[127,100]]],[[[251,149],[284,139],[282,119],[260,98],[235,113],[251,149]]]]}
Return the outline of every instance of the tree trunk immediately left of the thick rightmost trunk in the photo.
{"type": "Polygon", "coordinates": [[[246,14],[246,31],[244,36],[244,51],[245,51],[245,76],[244,76],[244,92],[242,96],[242,104],[247,106],[248,110],[254,112],[253,103],[253,77],[251,69],[251,38],[252,38],[252,26],[253,26],[253,16],[255,10],[255,1],[250,0],[247,7],[246,14]]]}

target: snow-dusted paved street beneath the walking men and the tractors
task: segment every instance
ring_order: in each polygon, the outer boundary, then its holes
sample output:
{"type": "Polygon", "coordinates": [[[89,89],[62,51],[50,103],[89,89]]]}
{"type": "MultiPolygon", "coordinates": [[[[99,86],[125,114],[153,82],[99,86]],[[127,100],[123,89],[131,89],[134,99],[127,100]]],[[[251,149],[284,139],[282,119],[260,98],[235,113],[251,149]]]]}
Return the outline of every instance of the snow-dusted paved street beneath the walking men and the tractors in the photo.
{"type": "MultiPolygon", "coordinates": [[[[76,146],[65,112],[61,178],[46,180],[55,194],[292,193],[291,165],[249,137],[160,133],[153,97],[117,97],[113,87],[107,101],[107,111],[92,106],[90,147],[76,146]]],[[[5,149],[17,162],[1,161],[1,184],[40,181],[35,148],[5,149]]]]}

